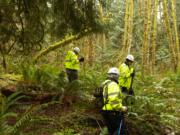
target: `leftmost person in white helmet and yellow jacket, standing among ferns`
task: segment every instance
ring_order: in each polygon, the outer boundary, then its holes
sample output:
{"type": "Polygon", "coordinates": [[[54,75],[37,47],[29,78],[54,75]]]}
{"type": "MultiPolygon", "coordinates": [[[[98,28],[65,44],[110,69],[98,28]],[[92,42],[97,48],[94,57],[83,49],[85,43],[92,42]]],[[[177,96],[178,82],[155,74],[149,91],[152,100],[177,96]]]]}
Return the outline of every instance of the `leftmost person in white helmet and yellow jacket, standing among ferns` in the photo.
{"type": "Polygon", "coordinates": [[[80,62],[84,62],[84,58],[79,58],[80,49],[73,48],[73,51],[68,51],[65,57],[65,68],[69,82],[78,79],[78,71],[80,62]]]}

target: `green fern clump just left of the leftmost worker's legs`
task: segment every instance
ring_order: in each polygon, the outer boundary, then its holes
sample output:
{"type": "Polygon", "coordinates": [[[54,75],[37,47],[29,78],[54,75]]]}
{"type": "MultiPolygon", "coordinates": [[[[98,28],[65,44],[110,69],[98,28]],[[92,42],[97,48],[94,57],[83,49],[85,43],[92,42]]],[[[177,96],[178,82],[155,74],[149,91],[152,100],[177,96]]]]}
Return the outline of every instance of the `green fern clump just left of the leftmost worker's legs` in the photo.
{"type": "Polygon", "coordinates": [[[59,73],[58,68],[48,64],[41,67],[24,64],[21,69],[24,80],[31,82],[31,85],[37,87],[38,90],[60,91],[67,83],[65,75],[59,73]]]}

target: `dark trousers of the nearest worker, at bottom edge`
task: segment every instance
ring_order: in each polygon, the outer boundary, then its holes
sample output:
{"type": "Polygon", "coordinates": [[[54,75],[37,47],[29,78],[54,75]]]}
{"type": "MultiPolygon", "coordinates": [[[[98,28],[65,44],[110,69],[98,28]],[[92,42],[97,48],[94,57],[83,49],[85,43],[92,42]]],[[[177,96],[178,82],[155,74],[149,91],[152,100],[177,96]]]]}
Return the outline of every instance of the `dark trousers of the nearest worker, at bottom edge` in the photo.
{"type": "Polygon", "coordinates": [[[123,113],[117,111],[101,111],[101,114],[107,125],[109,135],[118,135],[120,125],[120,135],[127,135],[123,113]]]}

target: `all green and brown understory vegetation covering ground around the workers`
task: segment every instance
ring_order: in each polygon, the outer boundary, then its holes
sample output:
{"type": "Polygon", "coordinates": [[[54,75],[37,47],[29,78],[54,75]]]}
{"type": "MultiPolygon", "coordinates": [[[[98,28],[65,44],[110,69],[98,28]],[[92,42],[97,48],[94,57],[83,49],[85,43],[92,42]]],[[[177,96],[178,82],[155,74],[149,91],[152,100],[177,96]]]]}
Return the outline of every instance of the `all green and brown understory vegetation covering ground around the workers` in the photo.
{"type": "MultiPolygon", "coordinates": [[[[41,70],[28,66],[22,71],[24,83],[20,80],[16,87],[21,92],[7,98],[1,95],[1,133],[92,135],[103,132],[104,124],[92,93],[106,78],[106,72],[89,70],[80,75],[82,79],[68,84],[64,73],[56,72],[57,69],[50,65],[41,70]],[[50,80],[44,85],[47,76],[50,80]],[[30,84],[26,83],[27,80],[30,84]],[[53,85],[50,84],[51,80],[53,85]],[[43,94],[47,92],[46,89],[58,93],[48,103],[46,100],[40,103],[18,96],[24,91],[43,94]]],[[[160,80],[157,76],[142,79],[137,73],[134,84],[136,96],[131,98],[132,104],[128,106],[126,115],[131,134],[180,133],[179,81],[180,73],[166,73],[160,80]]]]}

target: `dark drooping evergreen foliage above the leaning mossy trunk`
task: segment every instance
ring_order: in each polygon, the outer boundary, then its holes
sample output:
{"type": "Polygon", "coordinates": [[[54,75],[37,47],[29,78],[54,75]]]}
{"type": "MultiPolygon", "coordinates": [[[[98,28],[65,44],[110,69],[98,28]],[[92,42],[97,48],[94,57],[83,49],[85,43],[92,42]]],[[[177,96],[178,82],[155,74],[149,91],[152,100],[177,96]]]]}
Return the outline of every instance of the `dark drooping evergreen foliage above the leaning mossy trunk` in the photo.
{"type": "Polygon", "coordinates": [[[11,49],[29,52],[41,49],[47,33],[60,39],[86,29],[102,31],[99,4],[92,0],[1,0],[1,48],[5,53],[11,49]]]}

